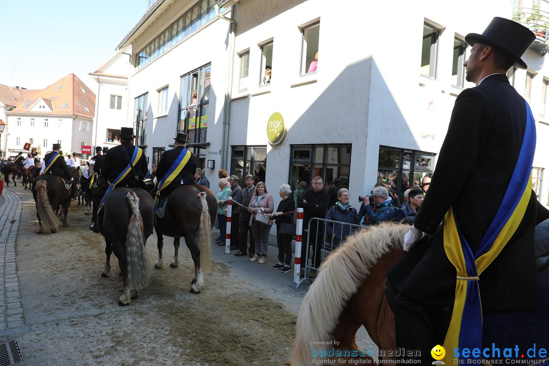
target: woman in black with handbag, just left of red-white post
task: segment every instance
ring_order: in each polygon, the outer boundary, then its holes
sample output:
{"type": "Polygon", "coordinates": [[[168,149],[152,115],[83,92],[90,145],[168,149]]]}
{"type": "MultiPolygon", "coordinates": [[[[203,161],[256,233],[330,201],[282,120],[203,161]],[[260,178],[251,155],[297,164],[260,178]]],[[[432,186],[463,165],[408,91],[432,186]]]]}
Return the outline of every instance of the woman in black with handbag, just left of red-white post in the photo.
{"type": "Polygon", "coordinates": [[[294,214],[286,213],[295,210],[295,202],[290,195],[292,190],[288,184],[282,184],[278,192],[282,201],[277,212],[273,213],[276,223],[276,241],[278,244],[278,263],[272,269],[282,269],[282,273],[292,272],[292,237],[295,234],[294,214]]]}

